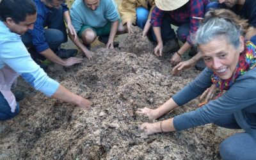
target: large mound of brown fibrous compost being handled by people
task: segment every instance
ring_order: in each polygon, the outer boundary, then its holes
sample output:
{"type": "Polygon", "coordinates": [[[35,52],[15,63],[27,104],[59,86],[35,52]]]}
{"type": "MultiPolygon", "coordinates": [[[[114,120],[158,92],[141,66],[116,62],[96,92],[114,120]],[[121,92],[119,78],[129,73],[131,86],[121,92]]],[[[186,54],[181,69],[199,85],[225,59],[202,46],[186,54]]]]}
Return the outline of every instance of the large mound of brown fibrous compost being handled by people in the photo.
{"type": "MultiPolygon", "coordinates": [[[[138,108],[157,108],[199,72],[191,68],[172,76],[172,54],[157,58],[145,47],[150,42],[137,35],[127,35],[118,49],[98,49],[95,60],[50,66],[49,76],[92,100],[92,109],[45,97],[19,79],[27,96],[18,116],[0,122],[0,159],[220,159],[218,146],[230,132],[216,125],[152,136],[138,129],[142,122],[157,122],[136,115],[138,108]]],[[[197,105],[192,100],[158,120],[197,105]]]]}

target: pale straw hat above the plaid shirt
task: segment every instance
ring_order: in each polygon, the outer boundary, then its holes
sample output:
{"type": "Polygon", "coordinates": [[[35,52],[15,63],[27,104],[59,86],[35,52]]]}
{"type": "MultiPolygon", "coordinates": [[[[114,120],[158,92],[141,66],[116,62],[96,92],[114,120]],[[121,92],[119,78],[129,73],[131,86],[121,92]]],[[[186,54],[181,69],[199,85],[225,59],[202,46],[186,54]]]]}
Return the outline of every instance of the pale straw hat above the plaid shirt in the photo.
{"type": "Polygon", "coordinates": [[[155,0],[157,8],[165,11],[176,10],[189,0],[155,0]]]}

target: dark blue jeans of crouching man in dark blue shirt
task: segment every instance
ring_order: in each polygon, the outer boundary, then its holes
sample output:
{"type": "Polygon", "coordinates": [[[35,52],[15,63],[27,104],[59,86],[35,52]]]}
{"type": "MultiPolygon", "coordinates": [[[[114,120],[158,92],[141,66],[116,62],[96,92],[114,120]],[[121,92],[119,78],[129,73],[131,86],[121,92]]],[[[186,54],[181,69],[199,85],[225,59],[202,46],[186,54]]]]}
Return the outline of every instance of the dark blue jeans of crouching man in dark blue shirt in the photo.
{"type": "MultiPolygon", "coordinates": [[[[58,9],[53,8],[52,13],[49,14],[44,22],[44,27],[47,26],[45,31],[45,40],[52,51],[56,52],[58,47],[67,42],[67,30],[65,23],[63,21],[63,8],[60,6],[58,9]]],[[[40,60],[45,60],[44,56],[40,55],[36,52],[35,48],[33,47],[32,43],[32,36],[30,33],[26,32],[24,35],[21,36],[22,42],[26,47],[30,48],[30,54],[36,54],[35,56],[40,60]]]]}

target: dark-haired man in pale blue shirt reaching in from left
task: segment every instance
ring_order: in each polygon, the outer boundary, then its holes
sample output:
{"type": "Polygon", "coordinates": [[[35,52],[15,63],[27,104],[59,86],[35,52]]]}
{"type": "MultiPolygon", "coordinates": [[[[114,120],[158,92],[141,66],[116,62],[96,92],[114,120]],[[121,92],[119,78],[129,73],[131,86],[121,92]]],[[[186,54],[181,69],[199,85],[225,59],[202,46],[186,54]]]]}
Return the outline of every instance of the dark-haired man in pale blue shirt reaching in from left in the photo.
{"type": "Polygon", "coordinates": [[[49,78],[32,60],[20,35],[33,29],[35,21],[36,6],[31,0],[0,1],[0,120],[13,118],[19,113],[19,104],[10,90],[19,75],[47,96],[81,108],[90,107],[89,100],[69,92],[49,78]]]}

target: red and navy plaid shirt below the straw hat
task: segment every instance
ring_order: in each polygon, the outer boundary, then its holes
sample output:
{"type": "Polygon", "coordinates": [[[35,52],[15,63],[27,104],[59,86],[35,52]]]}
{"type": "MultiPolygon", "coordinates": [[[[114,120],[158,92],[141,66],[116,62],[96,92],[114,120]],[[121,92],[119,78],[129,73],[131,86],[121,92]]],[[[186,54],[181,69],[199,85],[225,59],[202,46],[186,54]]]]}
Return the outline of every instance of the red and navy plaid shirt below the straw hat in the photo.
{"type": "Polygon", "coordinates": [[[205,7],[209,3],[209,0],[190,0],[184,6],[172,11],[163,11],[156,7],[152,12],[151,24],[153,27],[161,27],[164,14],[170,15],[172,19],[180,24],[189,22],[190,31],[186,40],[189,44],[193,44],[192,37],[198,29],[199,20],[192,17],[204,17],[205,7]]]}

